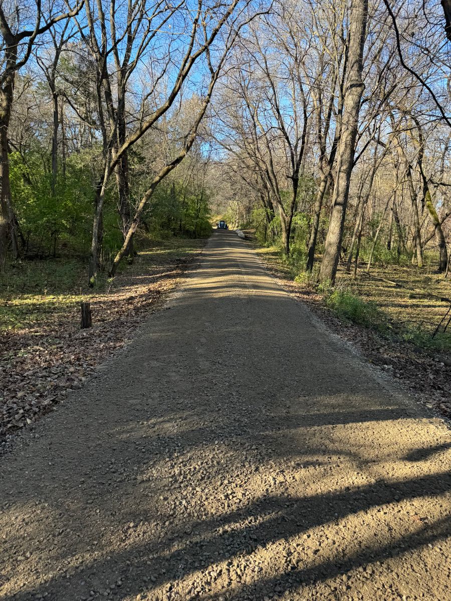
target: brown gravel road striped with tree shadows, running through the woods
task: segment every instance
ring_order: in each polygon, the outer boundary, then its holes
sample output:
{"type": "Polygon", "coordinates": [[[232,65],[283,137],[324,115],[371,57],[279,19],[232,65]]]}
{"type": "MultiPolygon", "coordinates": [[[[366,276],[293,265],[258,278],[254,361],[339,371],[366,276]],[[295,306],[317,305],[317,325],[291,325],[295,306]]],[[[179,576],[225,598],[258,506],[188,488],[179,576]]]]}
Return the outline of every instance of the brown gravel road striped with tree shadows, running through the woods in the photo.
{"type": "Polygon", "coordinates": [[[449,601],[450,441],[216,231],[0,457],[0,598],[449,601]]]}

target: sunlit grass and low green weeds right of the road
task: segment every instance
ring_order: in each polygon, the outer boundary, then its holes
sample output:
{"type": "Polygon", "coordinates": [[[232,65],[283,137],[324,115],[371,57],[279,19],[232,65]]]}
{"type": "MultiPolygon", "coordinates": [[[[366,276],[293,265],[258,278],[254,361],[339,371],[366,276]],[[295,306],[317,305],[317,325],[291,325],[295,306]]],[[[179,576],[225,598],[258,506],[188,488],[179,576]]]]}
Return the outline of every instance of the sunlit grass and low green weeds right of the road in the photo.
{"type": "Polygon", "coordinates": [[[397,264],[390,263],[393,257],[387,252],[384,257],[379,257],[381,263],[376,261],[373,264],[372,273],[376,278],[359,271],[357,279],[352,279],[340,270],[334,288],[330,284],[318,284],[321,261],[315,261],[313,273],[305,271],[305,245],[293,245],[290,257],[286,257],[280,246],[274,244],[265,245],[259,254],[284,278],[294,280],[310,294],[321,295],[325,305],[340,319],[419,349],[451,352],[451,323],[444,331],[449,319],[449,316],[443,319],[447,307],[437,299],[437,296],[449,296],[449,293],[443,277],[432,271],[436,255],[425,254],[431,267],[422,270],[403,258],[397,264]],[[387,264],[382,264],[384,261],[387,264]],[[388,280],[380,281],[378,276],[388,280]],[[390,279],[399,282],[402,287],[397,287],[390,279]],[[420,294],[413,288],[424,290],[424,293],[420,294]],[[435,298],[429,294],[435,294],[435,298]]]}

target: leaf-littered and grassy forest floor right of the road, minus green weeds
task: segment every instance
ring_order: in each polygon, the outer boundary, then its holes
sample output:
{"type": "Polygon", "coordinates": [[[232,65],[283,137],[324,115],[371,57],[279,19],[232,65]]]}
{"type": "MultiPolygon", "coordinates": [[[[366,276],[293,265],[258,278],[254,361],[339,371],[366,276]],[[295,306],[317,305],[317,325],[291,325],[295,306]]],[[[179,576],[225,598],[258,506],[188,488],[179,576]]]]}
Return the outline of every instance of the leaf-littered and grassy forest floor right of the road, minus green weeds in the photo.
{"type": "Polygon", "coordinates": [[[417,288],[425,293],[449,297],[449,281],[444,281],[432,270],[417,267],[376,266],[371,272],[373,277],[359,270],[355,281],[344,271],[340,272],[339,289],[351,291],[382,311],[391,328],[382,333],[380,324],[374,323],[373,327],[357,325],[327,306],[327,294],[293,281],[292,270],[274,247],[257,246],[255,251],[286,290],[307,303],[336,334],[354,343],[370,363],[398,379],[417,400],[451,418],[451,332],[440,337],[436,348],[434,343],[431,345],[431,332],[445,316],[449,305],[407,290],[417,288]],[[375,277],[397,281],[405,288],[375,277]]]}

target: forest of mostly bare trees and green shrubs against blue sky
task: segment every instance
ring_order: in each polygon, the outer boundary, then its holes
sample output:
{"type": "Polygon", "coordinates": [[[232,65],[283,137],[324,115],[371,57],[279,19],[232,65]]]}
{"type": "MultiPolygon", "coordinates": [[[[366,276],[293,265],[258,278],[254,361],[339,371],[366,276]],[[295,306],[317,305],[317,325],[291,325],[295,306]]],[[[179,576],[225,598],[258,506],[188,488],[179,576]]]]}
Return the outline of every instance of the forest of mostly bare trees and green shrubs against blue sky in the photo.
{"type": "Polygon", "coordinates": [[[33,265],[75,260],[77,287],[96,289],[222,217],[330,302],[374,296],[364,273],[432,299],[410,329],[443,338],[450,13],[423,0],[2,2],[7,299],[33,265]]]}

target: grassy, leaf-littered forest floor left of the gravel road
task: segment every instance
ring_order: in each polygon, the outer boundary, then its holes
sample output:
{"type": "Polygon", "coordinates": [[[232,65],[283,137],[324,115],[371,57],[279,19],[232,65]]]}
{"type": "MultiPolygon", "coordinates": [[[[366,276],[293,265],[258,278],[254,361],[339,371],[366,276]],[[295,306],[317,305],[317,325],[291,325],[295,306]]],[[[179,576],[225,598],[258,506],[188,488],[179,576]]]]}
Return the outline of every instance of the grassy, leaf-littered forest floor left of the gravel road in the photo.
{"type": "Polygon", "coordinates": [[[84,261],[10,264],[0,279],[0,448],[81,388],[124,346],[196,260],[205,240],[152,242],[114,279],[88,288],[84,261]],[[81,301],[93,327],[80,329],[81,301]]]}

